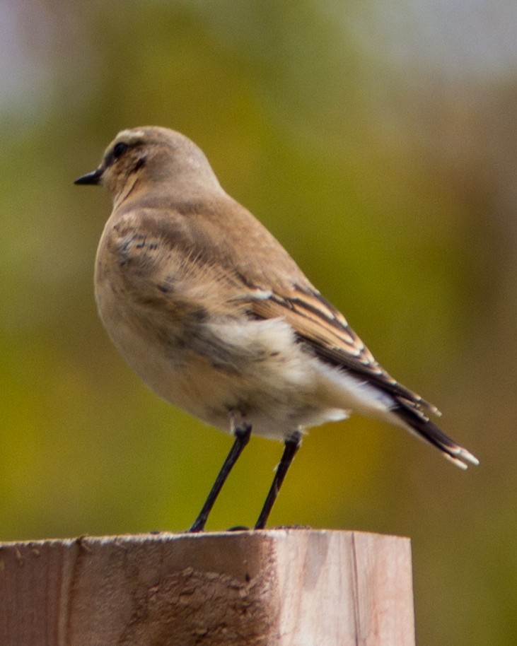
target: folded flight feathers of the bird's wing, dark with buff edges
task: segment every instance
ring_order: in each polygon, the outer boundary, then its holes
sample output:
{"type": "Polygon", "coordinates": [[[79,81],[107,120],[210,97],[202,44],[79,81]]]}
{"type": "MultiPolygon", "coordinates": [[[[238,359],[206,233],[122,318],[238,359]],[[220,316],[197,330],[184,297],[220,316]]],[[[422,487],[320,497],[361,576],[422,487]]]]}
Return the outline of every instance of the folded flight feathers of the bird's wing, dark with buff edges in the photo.
{"type": "Polygon", "coordinates": [[[435,406],[388,375],[347,319],[317,291],[295,285],[289,293],[250,300],[249,309],[252,315],[264,319],[283,317],[298,339],[327,363],[353,372],[416,411],[423,408],[440,414],[435,406]]]}

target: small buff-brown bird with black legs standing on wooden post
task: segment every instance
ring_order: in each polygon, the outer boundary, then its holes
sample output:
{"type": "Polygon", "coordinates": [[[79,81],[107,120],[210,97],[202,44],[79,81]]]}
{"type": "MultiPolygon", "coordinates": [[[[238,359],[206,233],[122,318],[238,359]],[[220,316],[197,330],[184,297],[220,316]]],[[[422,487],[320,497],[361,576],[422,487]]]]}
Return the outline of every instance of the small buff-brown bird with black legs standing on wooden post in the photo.
{"type": "Polygon", "coordinates": [[[75,183],[103,185],[112,198],[95,259],[95,300],[112,342],[159,397],[233,435],[189,532],[204,531],[252,433],[284,443],[254,529],[265,528],[306,429],[352,413],[408,430],[462,469],[479,464],[224,191],[187,136],[122,130],[75,183]]]}

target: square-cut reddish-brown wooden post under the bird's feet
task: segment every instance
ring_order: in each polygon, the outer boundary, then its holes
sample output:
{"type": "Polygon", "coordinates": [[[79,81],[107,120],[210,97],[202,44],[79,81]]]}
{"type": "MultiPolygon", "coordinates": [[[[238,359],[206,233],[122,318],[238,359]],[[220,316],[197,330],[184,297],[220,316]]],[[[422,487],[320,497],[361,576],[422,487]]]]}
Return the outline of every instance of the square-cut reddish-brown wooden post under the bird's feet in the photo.
{"type": "Polygon", "coordinates": [[[1,646],[414,646],[409,539],[274,529],[0,544],[1,646]]]}

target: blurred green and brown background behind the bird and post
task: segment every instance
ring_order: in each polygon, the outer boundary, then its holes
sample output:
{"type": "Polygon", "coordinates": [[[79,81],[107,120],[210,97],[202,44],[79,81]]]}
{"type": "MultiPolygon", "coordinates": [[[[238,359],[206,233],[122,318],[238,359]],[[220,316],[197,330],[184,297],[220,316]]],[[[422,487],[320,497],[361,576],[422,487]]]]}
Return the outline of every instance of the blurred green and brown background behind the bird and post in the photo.
{"type": "MultiPolygon", "coordinates": [[[[412,538],[419,646],[517,643],[517,8],[511,1],[0,2],[0,539],[190,525],[228,435],[158,400],[93,300],[120,129],[201,146],[395,377],[477,454],[313,429],[270,524],[412,538]]],[[[209,529],[252,524],[252,440],[209,529]]]]}

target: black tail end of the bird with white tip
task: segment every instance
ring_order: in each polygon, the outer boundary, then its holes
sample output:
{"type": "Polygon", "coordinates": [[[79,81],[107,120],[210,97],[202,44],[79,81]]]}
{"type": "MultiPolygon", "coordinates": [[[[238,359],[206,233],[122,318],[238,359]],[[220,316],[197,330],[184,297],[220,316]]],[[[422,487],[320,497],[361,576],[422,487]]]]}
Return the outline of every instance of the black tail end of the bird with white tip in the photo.
{"type": "Polygon", "coordinates": [[[442,430],[424,415],[421,409],[414,406],[412,402],[398,399],[398,405],[392,409],[392,413],[404,423],[409,430],[415,435],[426,440],[429,444],[435,446],[443,455],[453,462],[460,469],[467,469],[469,464],[480,464],[480,461],[469,451],[460,447],[456,442],[448,437],[442,430]]]}

